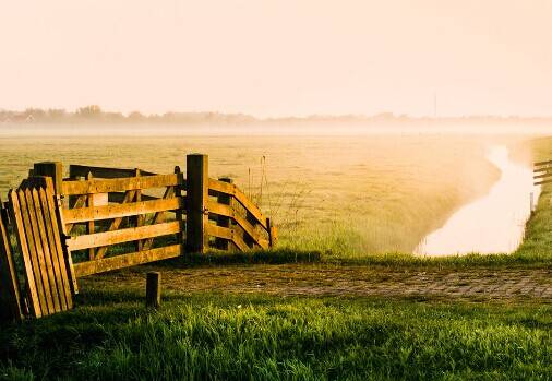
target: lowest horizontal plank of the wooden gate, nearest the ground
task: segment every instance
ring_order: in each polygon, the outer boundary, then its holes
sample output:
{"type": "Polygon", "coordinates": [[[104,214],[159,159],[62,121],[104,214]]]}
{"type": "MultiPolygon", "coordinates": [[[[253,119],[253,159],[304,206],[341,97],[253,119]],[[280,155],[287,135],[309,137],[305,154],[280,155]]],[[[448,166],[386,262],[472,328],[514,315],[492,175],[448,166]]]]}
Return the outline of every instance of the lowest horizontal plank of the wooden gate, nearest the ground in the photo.
{"type": "Polygon", "coordinates": [[[92,274],[105,273],[107,271],[119,270],[129,266],[135,266],[153,261],[166,260],[179,257],[182,245],[171,245],[163,248],[142,250],[129,254],[121,254],[95,261],[82,262],[75,264],[76,276],[86,276],[92,274]]]}

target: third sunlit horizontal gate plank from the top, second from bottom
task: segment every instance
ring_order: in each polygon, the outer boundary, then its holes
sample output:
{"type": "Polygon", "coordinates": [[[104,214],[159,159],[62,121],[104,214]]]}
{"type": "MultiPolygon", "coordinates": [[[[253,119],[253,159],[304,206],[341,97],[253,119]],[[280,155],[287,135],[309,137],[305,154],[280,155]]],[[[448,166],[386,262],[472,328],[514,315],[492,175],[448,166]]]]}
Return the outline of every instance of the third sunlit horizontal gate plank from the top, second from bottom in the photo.
{"type": "Polygon", "coordinates": [[[72,237],[69,240],[68,246],[71,251],[84,250],[95,247],[130,242],[137,239],[167,236],[170,234],[178,233],[179,229],[180,224],[178,223],[178,221],[157,225],[130,227],[120,230],[103,231],[87,236],[72,237]]]}

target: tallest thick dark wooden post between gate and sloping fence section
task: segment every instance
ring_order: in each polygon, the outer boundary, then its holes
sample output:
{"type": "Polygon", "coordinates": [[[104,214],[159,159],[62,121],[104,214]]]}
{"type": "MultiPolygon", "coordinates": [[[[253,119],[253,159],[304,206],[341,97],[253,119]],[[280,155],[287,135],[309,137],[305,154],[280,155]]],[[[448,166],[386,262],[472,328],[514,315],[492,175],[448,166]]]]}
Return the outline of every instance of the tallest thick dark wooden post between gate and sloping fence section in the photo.
{"type": "Polygon", "coordinates": [[[187,246],[190,252],[208,250],[208,156],[187,156],[187,246]]]}

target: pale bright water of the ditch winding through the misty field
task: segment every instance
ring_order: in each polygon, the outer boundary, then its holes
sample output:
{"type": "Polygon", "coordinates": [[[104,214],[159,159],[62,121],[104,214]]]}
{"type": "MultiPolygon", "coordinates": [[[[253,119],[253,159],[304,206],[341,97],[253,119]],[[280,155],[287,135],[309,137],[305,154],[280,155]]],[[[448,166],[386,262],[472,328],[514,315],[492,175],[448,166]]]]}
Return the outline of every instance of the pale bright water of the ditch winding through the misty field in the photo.
{"type": "Polygon", "coordinates": [[[485,197],[463,206],[428,235],[415,253],[511,253],[517,249],[530,215],[530,193],[537,200],[540,187],[532,186],[531,168],[512,162],[505,146],[491,148],[488,159],[501,169],[500,180],[485,197]]]}

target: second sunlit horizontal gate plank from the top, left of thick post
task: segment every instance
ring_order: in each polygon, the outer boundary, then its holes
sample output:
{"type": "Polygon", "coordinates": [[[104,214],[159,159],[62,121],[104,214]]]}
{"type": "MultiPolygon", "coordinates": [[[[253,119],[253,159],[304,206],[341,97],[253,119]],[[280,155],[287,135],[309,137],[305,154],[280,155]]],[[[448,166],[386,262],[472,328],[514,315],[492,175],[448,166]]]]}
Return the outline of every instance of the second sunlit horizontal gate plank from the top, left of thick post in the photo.
{"type": "Polygon", "coordinates": [[[183,198],[158,199],[134,203],[110,204],[94,207],[80,207],[63,211],[63,218],[69,223],[129,217],[137,214],[175,211],[184,207],[183,198]]]}

